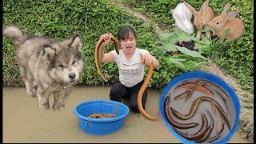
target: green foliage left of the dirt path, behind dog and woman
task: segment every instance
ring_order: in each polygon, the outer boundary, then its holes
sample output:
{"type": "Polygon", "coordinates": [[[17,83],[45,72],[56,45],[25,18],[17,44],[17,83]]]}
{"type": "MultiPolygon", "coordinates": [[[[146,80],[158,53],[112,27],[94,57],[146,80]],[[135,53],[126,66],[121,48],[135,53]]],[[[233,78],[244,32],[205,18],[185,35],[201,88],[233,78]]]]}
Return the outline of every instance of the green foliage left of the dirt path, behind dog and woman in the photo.
{"type": "MultiPolygon", "coordinates": [[[[114,62],[103,64],[102,73],[109,82],[105,83],[99,76],[94,63],[94,47],[100,34],[111,32],[117,36],[118,29],[123,25],[130,25],[138,36],[138,47],[150,50],[158,59],[161,66],[154,70],[150,86],[162,90],[170,79],[181,74],[177,67],[166,66],[166,59],[162,58],[156,44],[157,36],[153,27],[143,26],[138,20],[110,2],[102,0],[57,0],[57,1],[14,1],[3,2],[3,25],[18,26],[28,33],[45,35],[50,38],[69,38],[75,30],[81,35],[83,42],[83,55],[86,66],[80,84],[90,86],[109,85],[118,78],[118,68],[114,62]]],[[[106,51],[114,50],[114,43],[107,46],[106,51]]],[[[3,86],[24,86],[19,77],[18,65],[15,64],[14,42],[3,40],[3,86]]],[[[147,69],[146,69],[147,72],[147,69]]]]}

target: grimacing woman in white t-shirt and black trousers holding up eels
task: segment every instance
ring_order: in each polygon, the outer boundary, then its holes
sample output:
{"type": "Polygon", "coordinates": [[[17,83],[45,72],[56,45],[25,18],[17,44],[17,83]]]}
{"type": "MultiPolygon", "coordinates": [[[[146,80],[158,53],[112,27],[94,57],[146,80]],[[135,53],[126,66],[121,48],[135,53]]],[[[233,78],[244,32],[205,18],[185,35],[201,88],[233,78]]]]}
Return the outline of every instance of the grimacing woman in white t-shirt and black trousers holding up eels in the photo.
{"type": "MultiPolygon", "coordinates": [[[[116,62],[119,70],[119,81],[114,83],[110,90],[110,100],[121,102],[122,98],[128,98],[130,110],[138,110],[138,91],[144,82],[144,66],[153,65],[158,68],[158,59],[154,58],[147,50],[136,47],[136,34],[130,26],[122,26],[118,31],[118,42],[121,46],[119,55],[115,50],[104,54],[105,47],[110,43],[113,35],[110,33],[102,34],[102,45],[99,48],[99,62],[116,62]],[[143,55],[143,56],[142,56],[143,55]]],[[[147,89],[142,96],[142,106],[145,109],[147,89]]]]}

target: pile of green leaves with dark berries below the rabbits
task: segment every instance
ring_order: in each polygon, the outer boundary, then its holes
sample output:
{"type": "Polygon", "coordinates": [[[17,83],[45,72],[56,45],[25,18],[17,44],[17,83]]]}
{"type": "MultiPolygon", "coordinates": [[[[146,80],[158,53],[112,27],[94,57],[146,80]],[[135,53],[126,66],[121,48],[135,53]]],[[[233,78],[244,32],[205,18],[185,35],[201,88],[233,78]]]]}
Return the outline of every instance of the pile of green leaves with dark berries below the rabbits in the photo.
{"type": "Polygon", "coordinates": [[[166,54],[171,64],[174,64],[182,70],[190,70],[195,66],[199,66],[205,62],[209,62],[210,58],[206,58],[211,50],[210,41],[208,39],[199,40],[195,34],[190,35],[175,27],[174,32],[164,33],[160,35],[158,43],[163,52],[180,51],[182,54],[166,54]],[[189,50],[186,47],[177,46],[177,42],[187,42],[193,40],[194,48],[198,51],[189,50]],[[204,55],[206,56],[204,56],[204,55]]]}

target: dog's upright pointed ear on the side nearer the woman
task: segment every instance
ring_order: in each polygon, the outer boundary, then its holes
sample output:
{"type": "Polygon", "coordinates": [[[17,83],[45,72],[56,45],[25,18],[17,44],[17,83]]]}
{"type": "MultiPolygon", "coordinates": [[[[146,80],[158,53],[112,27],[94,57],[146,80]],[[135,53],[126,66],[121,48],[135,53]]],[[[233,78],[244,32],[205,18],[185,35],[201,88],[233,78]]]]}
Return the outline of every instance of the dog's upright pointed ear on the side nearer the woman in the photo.
{"type": "Polygon", "coordinates": [[[78,50],[78,51],[82,50],[82,42],[81,42],[81,39],[79,38],[78,32],[74,32],[74,35],[72,36],[72,38],[68,39],[67,42],[68,42],[67,43],[68,46],[70,46],[74,50],[78,50]]]}

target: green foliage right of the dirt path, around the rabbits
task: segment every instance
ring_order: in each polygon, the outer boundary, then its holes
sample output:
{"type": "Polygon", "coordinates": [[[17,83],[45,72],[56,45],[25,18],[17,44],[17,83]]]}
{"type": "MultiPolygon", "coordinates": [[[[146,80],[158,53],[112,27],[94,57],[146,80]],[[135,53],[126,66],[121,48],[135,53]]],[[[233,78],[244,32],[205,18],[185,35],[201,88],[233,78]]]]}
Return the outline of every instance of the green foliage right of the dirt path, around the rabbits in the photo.
{"type": "MultiPolygon", "coordinates": [[[[174,10],[175,6],[181,0],[122,0],[126,5],[134,10],[146,14],[155,22],[161,24],[166,30],[174,29],[174,18],[170,9],[174,10]]],[[[193,1],[186,0],[196,10],[202,6],[203,0],[193,1]]],[[[209,6],[214,9],[215,15],[220,14],[228,0],[211,0],[209,6]]],[[[240,10],[236,18],[244,23],[244,34],[242,38],[232,42],[229,48],[218,47],[214,50],[213,61],[225,70],[227,74],[238,78],[244,90],[254,93],[254,2],[250,0],[230,0],[230,11],[240,10]]]]}

